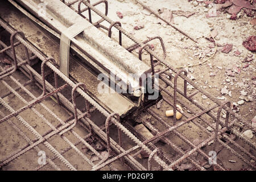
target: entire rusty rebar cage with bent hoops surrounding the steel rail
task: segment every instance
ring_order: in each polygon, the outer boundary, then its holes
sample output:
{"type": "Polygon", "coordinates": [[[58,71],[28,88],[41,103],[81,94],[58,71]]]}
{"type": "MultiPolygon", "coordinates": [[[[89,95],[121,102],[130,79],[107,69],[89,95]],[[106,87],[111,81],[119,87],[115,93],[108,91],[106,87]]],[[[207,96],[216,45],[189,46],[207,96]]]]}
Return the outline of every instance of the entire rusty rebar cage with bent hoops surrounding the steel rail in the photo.
{"type": "MultiPolygon", "coordinates": [[[[84,18],[85,15],[83,13],[89,13],[89,22],[92,23],[93,17],[91,14],[91,11],[101,16],[101,20],[99,20],[96,23],[93,23],[94,26],[98,28],[104,28],[105,30],[109,31],[109,36],[111,36],[111,29],[112,27],[117,28],[119,31],[119,44],[123,46],[122,44],[122,35],[127,36],[135,44],[132,46],[127,46],[128,51],[133,51],[134,49],[140,47],[139,51],[139,58],[141,59],[141,53],[142,50],[145,49],[148,53],[150,53],[150,63],[152,68],[152,75],[155,74],[159,75],[160,82],[159,82],[159,89],[163,93],[163,102],[174,108],[174,121],[172,123],[166,121],[164,119],[163,115],[158,114],[154,107],[150,107],[146,110],[146,114],[151,115],[152,118],[154,118],[156,121],[158,121],[159,125],[152,125],[147,120],[143,120],[142,123],[145,125],[150,131],[154,134],[154,137],[150,139],[146,139],[143,137],[143,135],[139,134],[138,131],[136,131],[129,122],[122,123],[119,115],[116,113],[108,113],[102,107],[99,105],[96,101],[93,100],[92,97],[86,92],[86,88],[84,84],[79,83],[76,84],[71,79],[63,75],[57,68],[57,65],[55,64],[55,60],[53,60],[51,57],[46,57],[40,52],[38,49],[36,49],[26,38],[24,38],[24,35],[22,32],[14,30],[12,27],[9,26],[6,22],[4,22],[2,19],[0,20],[1,26],[8,31],[10,36],[10,46],[6,46],[5,43],[2,41],[1,46],[3,47],[0,53],[7,53],[12,59],[13,59],[13,66],[7,69],[1,68],[0,73],[0,80],[1,84],[4,85],[9,91],[7,93],[1,93],[0,103],[3,107],[5,107],[6,110],[9,110],[9,114],[1,114],[0,119],[0,127],[1,123],[8,122],[11,126],[14,127],[14,129],[20,133],[20,135],[23,136],[23,139],[26,140],[27,144],[24,145],[19,150],[13,152],[13,154],[10,154],[5,159],[1,159],[0,167],[6,166],[13,160],[17,159],[19,156],[24,155],[26,152],[34,149],[36,151],[40,151],[39,144],[43,144],[48,148],[49,151],[54,154],[54,156],[51,159],[47,160],[47,164],[51,165],[53,169],[61,169],[60,166],[58,166],[53,160],[56,158],[60,159],[61,162],[71,170],[75,170],[76,168],[72,166],[72,164],[68,161],[68,159],[64,158],[63,154],[65,152],[71,150],[75,150],[79,156],[81,156],[82,159],[90,166],[92,167],[92,170],[99,170],[104,168],[105,166],[109,166],[110,169],[115,169],[113,167],[113,162],[116,160],[124,160],[127,166],[129,166],[131,169],[135,170],[150,170],[152,169],[152,162],[151,160],[154,159],[157,164],[160,166],[160,168],[157,169],[179,169],[180,164],[184,161],[188,161],[189,163],[193,164],[193,167],[195,169],[199,170],[205,170],[203,167],[205,164],[208,163],[209,155],[203,150],[203,147],[207,146],[209,142],[214,142],[213,150],[217,153],[220,152],[223,148],[226,148],[226,150],[229,150],[232,152],[233,155],[237,156],[247,164],[247,166],[251,169],[255,169],[254,164],[250,162],[250,159],[256,160],[255,158],[255,147],[256,144],[253,140],[245,138],[240,131],[236,129],[236,127],[241,127],[239,124],[240,122],[248,127],[250,130],[255,131],[255,129],[251,126],[251,124],[247,121],[244,121],[238,114],[234,113],[230,109],[230,102],[223,102],[221,103],[216,98],[212,97],[209,93],[205,92],[203,89],[201,89],[198,85],[196,85],[192,80],[190,80],[187,77],[187,72],[183,70],[177,70],[173,67],[171,67],[170,64],[167,63],[165,60],[166,57],[166,50],[163,44],[163,40],[159,37],[152,38],[149,40],[145,40],[143,43],[139,42],[137,39],[135,39],[133,36],[128,34],[127,31],[125,31],[119,22],[113,22],[110,20],[106,15],[108,15],[108,2],[107,1],[99,1],[97,3],[94,3],[93,5],[90,4],[89,1],[72,1],[72,2],[64,2],[67,6],[71,7],[73,10],[75,10],[77,13],[79,13],[84,18]],[[106,11],[105,14],[101,13],[96,9],[98,4],[105,3],[106,11]],[[81,5],[85,5],[86,7],[84,9],[81,9],[81,5]],[[75,9],[75,6],[77,6],[77,9],[75,9]],[[108,22],[110,24],[110,27],[107,28],[105,26],[102,26],[100,23],[102,22],[108,22]],[[18,40],[18,42],[14,42],[14,38],[18,40]],[[163,59],[156,55],[154,51],[152,51],[150,48],[148,48],[148,42],[150,42],[153,39],[159,39],[160,43],[163,47],[164,56],[163,59]],[[26,50],[27,59],[22,60],[15,52],[15,47],[17,46],[24,46],[26,50]],[[30,54],[33,54],[33,56],[30,57],[30,54]],[[38,58],[42,61],[41,65],[41,75],[35,71],[34,68],[32,68],[31,60],[38,58]],[[156,59],[156,60],[154,60],[156,59]],[[166,68],[160,69],[158,68],[159,65],[164,65],[166,68]],[[46,81],[46,69],[49,69],[53,72],[54,75],[54,81],[53,84],[50,84],[48,81],[46,81]],[[21,83],[18,81],[13,74],[17,71],[22,71],[24,75],[27,76],[28,81],[25,83],[21,83]],[[170,72],[171,71],[171,72],[170,72]],[[184,73],[184,74],[183,74],[184,73]],[[174,79],[172,80],[172,77],[174,79]],[[179,89],[177,87],[178,84],[178,78],[184,82],[183,90],[179,89]],[[60,84],[60,80],[62,84],[60,84]],[[14,82],[17,87],[12,87],[7,80],[11,80],[14,82]],[[26,88],[26,85],[29,84],[36,84],[39,88],[42,88],[43,93],[39,97],[34,96],[26,88]],[[197,90],[194,93],[188,94],[187,93],[187,84],[191,84],[195,87],[197,90]],[[61,91],[69,88],[71,90],[71,98],[66,98],[61,91]],[[23,90],[26,92],[31,98],[31,101],[25,100],[19,93],[18,90],[23,90]],[[79,110],[76,106],[76,97],[75,92],[79,93],[81,97],[84,98],[85,104],[83,105],[85,109],[79,110]],[[7,104],[3,98],[9,96],[11,93],[15,94],[16,97],[22,101],[25,106],[14,110],[9,104],[7,104]],[[203,104],[199,104],[199,102],[196,102],[193,97],[195,97],[198,93],[204,94],[208,97],[209,101],[212,102],[211,106],[205,107],[203,104]],[[47,98],[55,98],[58,104],[61,104],[65,109],[69,110],[71,112],[70,117],[66,118],[64,121],[58,117],[53,111],[51,111],[46,105],[44,105],[42,102],[46,100],[47,98]],[[177,104],[189,109],[191,113],[184,113],[179,107],[177,107],[177,104]],[[193,106],[190,106],[190,105],[193,106]],[[45,117],[42,116],[35,108],[34,106],[40,105],[42,106],[56,121],[59,122],[59,125],[53,126],[45,117]],[[89,107],[90,106],[90,107],[89,107]],[[28,122],[20,117],[20,113],[26,111],[26,110],[32,110],[36,115],[38,115],[43,121],[51,128],[49,129],[45,134],[39,134],[28,122]],[[92,111],[97,110],[102,115],[106,117],[106,122],[102,126],[96,125],[96,122],[90,118],[90,113],[92,111]],[[198,111],[199,110],[199,111],[198,111]],[[221,118],[221,112],[222,110],[225,110],[226,118],[225,121],[221,118]],[[184,118],[182,121],[176,121],[176,113],[177,111],[182,112],[184,115],[184,118]],[[19,129],[19,126],[17,126],[13,121],[10,120],[10,118],[15,117],[18,119],[22,125],[24,125],[35,137],[36,139],[31,139],[24,133],[21,129],[19,129]],[[210,118],[210,119],[209,119],[210,118]],[[212,122],[212,121],[215,121],[212,122]],[[76,131],[74,131],[74,127],[79,123],[84,127],[84,129],[87,131],[87,135],[84,137],[81,137],[81,135],[77,134],[76,131]],[[191,138],[188,136],[185,136],[179,129],[181,126],[187,125],[188,123],[193,123],[198,129],[200,129],[207,137],[203,141],[195,143],[191,138]],[[115,125],[118,129],[118,143],[114,141],[113,138],[110,137],[109,134],[109,127],[111,125],[115,125]],[[221,125],[221,129],[219,129],[219,125],[221,125]],[[214,131],[210,132],[207,130],[207,127],[214,128],[214,131]],[[65,134],[72,133],[76,137],[77,142],[72,143],[67,137],[65,137],[65,134]],[[229,133],[232,133],[235,135],[239,140],[241,140],[243,143],[247,144],[253,151],[247,151],[244,147],[241,146],[238,142],[233,140],[229,133]],[[175,144],[170,139],[170,134],[174,134],[176,137],[178,137],[180,140],[182,140],[185,144],[187,144],[188,148],[187,150],[184,150],[177,144],[175,144]],[[61,150],[61,152],[57,151],[55,147],[53,147],[48,140],[52,138],[55,135],[59,135],[59,137],[64,140],[69,146],[65,148],[64,150],[61,150]],[[96,137],[98,140],[101,140],[102,144],[107,148],[108,155],[102,156],[100,153],[94,148],[92,145],[88,143],[88,138],[90,137],[96,137]],[[125,150],[123,148],[122,141],[126,140],[127,138],[130,138],[135,143],[133,147],[125,150]],[[169,146],[172,150],[177,152],[177,155],[174,158],[171,158],[167,155],[166,149],[163,149],[161,147],[157,147],[156,143],[158,141],[162,141],[167,146],[169,146]],[[77,148],[80,143],[84,144],[89,150],[91,150],[96,156],[98,156],[101,160],[100,162],[94,164],[90,161],[90,159],[83,154],[83,152],[77,148]],[[139,163],[136,157],[138,154],[141,154],[141,152],[146,152],[148,154],[148,163],[147,167],[143,166],[143,164],[139,163]],[[198,152],[203,158],[205,159],[205,163],[200,163],[199,160],[193,158],[193,154],[195,152],[198,152]]],[[[87,18],[86,18],[87,19],[87,18]]],[[[141,59],[142,60],[142,59],[141,59]]],[[[38,166],[35,169],[41,169],[43,166],[38,166]]],[[[220,164],[214,164],[214,167],[220,170],[226,170],[223,166],[220,164]]]]}

